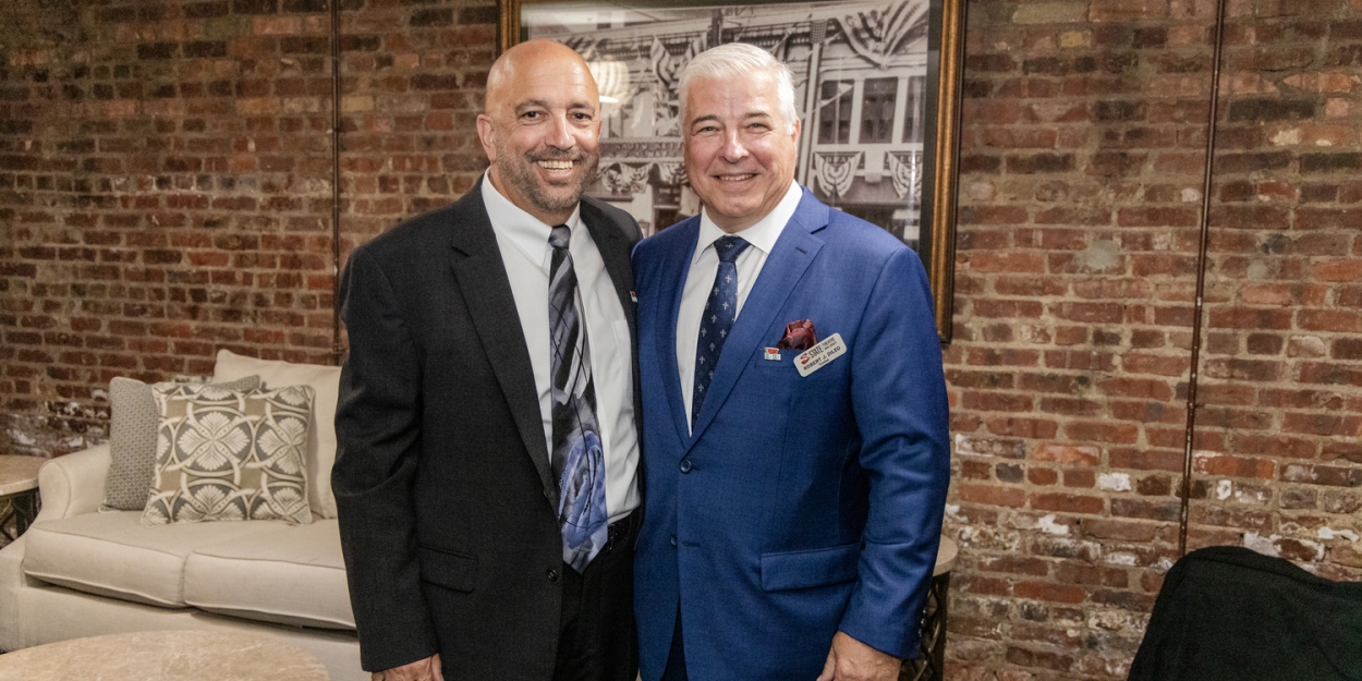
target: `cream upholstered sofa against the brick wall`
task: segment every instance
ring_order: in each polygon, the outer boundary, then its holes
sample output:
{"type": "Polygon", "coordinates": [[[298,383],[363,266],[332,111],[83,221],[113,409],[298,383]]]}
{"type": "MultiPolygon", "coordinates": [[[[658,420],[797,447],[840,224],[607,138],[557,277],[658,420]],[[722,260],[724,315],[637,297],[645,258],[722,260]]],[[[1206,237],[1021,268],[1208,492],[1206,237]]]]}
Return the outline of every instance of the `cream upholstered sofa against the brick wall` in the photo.
{"type": "Polygon", "coordinates": [[[99,511],[109,445],[53,459],[38,474],[42,512],[0,550],[0,650],[129,631],[222,629],[308,650],[334,681],[369,678],[360,667],[330,498],[338,369],[219,353],[215,379],[242,372],[259,373],[271,388],[301,383],[298,376],[315,383],[315,426],[323,434],[312,433],[320,447],[308,460],[317,492],[312,524],[144,527],[139,511],[99,511]]]}

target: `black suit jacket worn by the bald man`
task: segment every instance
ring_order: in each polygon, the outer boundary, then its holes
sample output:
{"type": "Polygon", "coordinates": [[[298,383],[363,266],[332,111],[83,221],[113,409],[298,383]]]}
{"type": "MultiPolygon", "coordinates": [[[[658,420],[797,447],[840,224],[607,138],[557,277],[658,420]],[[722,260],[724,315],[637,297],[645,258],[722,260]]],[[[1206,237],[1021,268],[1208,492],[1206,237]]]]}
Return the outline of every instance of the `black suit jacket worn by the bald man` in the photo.
{"type": "MultiPolygon", "coordinates": [[[[582,221],[633,335],[637,225],[591,199],[582,221]]],[[[481,183],[357,248],[340,300],[332,485],[364,669],[440,652],[451,681],[552,678],[558,485],[481,183]]]]}

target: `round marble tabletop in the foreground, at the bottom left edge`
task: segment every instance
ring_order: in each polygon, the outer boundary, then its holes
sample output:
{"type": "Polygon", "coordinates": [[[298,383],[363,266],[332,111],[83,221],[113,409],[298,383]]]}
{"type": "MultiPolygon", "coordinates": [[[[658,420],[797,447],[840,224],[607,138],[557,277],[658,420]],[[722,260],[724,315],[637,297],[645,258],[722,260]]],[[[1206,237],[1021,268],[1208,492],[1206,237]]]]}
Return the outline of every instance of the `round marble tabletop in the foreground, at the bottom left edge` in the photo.
{"type": "Polygon", "coordinates": [[[223,632],[133,632],[0,655],[0,681],[328,681],[311,652],[278,639],[223,632]]]}

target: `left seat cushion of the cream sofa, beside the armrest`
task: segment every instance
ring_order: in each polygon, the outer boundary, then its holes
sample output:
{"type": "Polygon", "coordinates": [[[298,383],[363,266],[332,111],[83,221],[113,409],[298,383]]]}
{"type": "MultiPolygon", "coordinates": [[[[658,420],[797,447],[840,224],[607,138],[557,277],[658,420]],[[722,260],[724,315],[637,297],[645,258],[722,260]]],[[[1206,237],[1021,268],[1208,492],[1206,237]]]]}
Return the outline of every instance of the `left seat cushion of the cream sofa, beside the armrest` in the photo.
{"type": "Polygon", "coordinates": [[[89,594],[184,607],[184,563],[199,546],[286,527],[271,520],[144,527],[140,511],[34,523],[23,572],[89,594]]]}

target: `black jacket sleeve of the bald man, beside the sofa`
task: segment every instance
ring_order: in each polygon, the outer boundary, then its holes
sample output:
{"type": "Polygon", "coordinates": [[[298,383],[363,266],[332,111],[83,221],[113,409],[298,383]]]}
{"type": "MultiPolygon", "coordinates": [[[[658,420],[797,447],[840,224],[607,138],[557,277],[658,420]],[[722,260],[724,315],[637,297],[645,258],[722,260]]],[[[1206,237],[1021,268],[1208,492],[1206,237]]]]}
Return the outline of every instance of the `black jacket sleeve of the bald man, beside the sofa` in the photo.
{"type": "Polygon", "coordinates": [[[340,283],[350,354],[336,405],[340,546],[365,670],[434,655],[421,594],[413,488],[421,458],[421,360],[388,274],[365,248],[340,283]]]}

